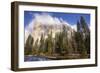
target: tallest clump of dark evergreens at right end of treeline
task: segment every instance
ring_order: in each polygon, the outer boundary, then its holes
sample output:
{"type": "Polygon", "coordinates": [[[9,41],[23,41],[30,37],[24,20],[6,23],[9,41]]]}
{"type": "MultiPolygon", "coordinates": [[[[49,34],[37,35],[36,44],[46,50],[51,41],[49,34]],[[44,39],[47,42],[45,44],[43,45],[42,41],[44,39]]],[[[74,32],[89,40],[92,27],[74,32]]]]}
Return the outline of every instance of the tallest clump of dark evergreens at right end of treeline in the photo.
{"type": "Polygon", "coordinates": [[[75,33],[77,50],[81,57],[85,57],[90,52],[90,30],[83,16],[80,17],[80,22],[77,21],[77,32],[75,33]]]}

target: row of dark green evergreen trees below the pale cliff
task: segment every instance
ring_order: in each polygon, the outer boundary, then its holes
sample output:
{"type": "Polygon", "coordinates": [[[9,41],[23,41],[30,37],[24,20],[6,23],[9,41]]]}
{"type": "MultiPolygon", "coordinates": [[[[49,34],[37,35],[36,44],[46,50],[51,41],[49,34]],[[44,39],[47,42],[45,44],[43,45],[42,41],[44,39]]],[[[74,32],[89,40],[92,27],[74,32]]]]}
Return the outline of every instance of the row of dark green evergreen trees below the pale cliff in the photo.
{"type": "Polygon", "coordinates": [[[65,25],[62,31],[52,37],[52,31],[48,37],[42,34],[40,40],[34,41],[29,35],[25,44],[25,55],[67,56],[68,54],[79,54],[81,57],[89,57],[90,54],[90,29],[83,16],[77,21],[77,31],[70,32],[65,25]],[[33,44],[34,43],[34,44],[33,44]]]}

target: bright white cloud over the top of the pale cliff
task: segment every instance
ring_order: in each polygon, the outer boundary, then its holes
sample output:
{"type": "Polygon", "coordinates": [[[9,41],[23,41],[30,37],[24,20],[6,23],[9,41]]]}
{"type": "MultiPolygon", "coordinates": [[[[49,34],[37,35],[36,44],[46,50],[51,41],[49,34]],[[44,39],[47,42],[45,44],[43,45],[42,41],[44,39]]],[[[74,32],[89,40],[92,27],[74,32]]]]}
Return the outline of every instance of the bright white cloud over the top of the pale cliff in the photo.
{"type": "Polygon", "coordinates": [[[50,14],[42,13],[42,14],[34,14],[35,21],[42,23],[42,24],[48,24],[48,25],[54,25],[54,24],[61,24],[61,21],[57,17],[53,17],[50,14]]]}

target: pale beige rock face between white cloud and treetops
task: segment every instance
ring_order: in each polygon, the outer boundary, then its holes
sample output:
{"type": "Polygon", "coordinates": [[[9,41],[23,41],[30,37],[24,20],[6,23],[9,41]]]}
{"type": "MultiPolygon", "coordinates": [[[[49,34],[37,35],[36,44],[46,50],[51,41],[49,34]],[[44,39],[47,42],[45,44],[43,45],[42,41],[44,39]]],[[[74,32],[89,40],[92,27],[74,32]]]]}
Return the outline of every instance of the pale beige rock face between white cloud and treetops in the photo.
{"type": "Polygon", "coordinates": [[[41,35],[44,35],[44,37],[47,38],[48,34],[52,32],[52,38],[55,38],[56,33],[62,32],[63,26],[65,26],[66,28],[66,31],[68,33],[68,38],[71,38],[72,33],[74,33],[75,30],[66,24],[49,25],[49,24],[35,23],[31,35],[33,36],[34,40],[36,39],[40,40],[41,35]]]}

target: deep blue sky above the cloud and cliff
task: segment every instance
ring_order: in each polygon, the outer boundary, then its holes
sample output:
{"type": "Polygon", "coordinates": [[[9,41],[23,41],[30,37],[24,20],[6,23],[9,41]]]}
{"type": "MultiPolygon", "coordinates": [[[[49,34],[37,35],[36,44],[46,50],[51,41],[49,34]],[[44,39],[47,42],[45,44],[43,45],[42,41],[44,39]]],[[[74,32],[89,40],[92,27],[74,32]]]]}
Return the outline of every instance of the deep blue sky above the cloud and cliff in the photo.
{"type": "Polygon", "coordinates": [[[68,22],[70,25],[75,25],[80,19],[80,16],[83,16],[86,20],[88,26],[90,26],[90,14],[82,13],[61,13],[61,12],[39,12],[39,11],[24,11],[24,26],[27,26],[35,17],[34,14],[47,13],[52,17],[62,18],[64,21],[68,22]]]}

